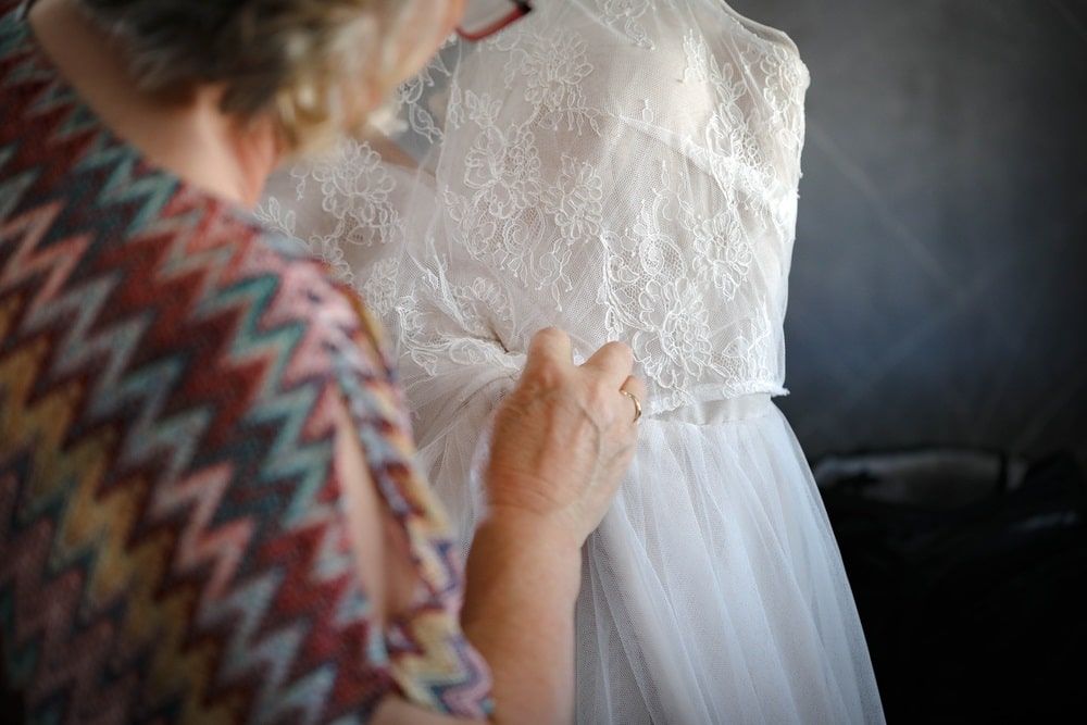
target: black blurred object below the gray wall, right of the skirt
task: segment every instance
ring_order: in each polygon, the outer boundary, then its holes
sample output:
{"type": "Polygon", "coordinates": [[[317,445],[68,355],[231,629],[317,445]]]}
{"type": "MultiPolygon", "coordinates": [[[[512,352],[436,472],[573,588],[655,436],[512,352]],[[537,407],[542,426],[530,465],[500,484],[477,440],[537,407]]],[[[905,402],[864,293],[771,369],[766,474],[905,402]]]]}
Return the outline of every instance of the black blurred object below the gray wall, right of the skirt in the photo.
{"type": "Polygon", "coordinates": [[[1087,480],[1076,460],[919,451],[911,470],[911,455],[822,467],[888,722],[1087,712],[1087,480]]]}

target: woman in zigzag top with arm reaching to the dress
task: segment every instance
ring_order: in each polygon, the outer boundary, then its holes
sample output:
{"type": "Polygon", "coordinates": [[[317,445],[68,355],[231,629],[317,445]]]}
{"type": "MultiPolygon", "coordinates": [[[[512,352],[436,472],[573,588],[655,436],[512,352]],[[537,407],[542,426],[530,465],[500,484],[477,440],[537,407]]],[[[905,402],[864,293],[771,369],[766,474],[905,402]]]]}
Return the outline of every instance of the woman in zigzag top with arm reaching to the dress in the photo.
{"type": "Polygon", "coordinates": [[[462,3],[23,10],[0,0],[4,722],[569,717],[629,349],[534,336],[462,577],[377,329],[247,211],[462,3]]]}

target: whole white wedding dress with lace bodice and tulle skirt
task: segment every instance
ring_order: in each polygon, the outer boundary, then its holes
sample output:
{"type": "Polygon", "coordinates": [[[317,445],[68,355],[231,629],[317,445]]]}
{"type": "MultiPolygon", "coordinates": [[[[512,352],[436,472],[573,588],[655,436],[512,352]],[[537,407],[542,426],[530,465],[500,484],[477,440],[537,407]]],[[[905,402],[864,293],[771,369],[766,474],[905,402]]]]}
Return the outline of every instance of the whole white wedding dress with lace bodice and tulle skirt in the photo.
{"type": "Polygon", "coordinates": [[[262,204],[390,330],[465,549],[473,462],[532,335],[558,325],[580,359],[633,347],[649,397],[586,547],[577,723],[883,721],[819,491],[771,401],[807,86],[784,34],[720,0],[541,1],[401,88],[392,133],[418,164],[346,143],[262,204]]]}

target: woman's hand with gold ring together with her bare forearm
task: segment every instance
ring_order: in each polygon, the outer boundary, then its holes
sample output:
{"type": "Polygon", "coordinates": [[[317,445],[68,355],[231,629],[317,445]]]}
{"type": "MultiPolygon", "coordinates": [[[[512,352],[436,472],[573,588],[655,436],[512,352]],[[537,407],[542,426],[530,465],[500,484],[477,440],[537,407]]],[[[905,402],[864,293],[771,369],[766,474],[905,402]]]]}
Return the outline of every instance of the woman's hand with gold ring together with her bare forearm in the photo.
{"type": "Polygon", "coordinates": [[[488,497],[467,561],[462,624],[491,666],[495,723],[574,712],[574,603],[582,545],[634,457],[634,355],[610,342],[582,365],[565,333],[536,334],[495,416],[488,497]]]}

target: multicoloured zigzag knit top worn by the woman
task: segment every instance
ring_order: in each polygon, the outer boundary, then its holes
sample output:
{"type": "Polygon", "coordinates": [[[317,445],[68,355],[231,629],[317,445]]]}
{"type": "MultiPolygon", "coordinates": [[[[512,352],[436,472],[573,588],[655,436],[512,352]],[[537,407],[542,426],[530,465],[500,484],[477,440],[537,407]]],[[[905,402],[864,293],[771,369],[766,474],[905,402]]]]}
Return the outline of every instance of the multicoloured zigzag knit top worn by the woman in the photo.
{"type": "Polygon", "coordinates": [[[298,243],[104,128],[17,5],[0,0],[8,697],[35,723],[352,723],[390,691],[487,712],[373,325],[298,243]],[[384,630],[333,465],[337,399],[421,579],[384,630]]]}

